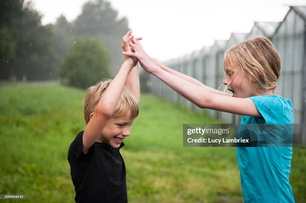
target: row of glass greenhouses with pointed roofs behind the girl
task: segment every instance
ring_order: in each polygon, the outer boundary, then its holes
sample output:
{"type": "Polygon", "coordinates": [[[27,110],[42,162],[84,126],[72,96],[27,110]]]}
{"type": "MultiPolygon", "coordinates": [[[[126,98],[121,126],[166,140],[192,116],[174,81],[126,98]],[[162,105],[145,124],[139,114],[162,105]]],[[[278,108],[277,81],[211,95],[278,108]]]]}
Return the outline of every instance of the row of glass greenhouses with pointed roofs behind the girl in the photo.
{"type": "MultiPolygon", "coordinates": [[[[164,64],[176,71],[196,78],[203,84],[217,89],[223,83],[223,54],[233,45],[255,36],[264,35],[271,39],[281,55],[282,70],[278,81],[277,94],[292,100],[294,122],[306,123],[306,6],[291,6],[284,20],[279,23],[255,22],[250,33],[233,33],[227,41],[215,41],[211,47],[172,59],[164,64]]],[[[188,100],[182,98],[154,76],[151,78],[151,91],[190,109],[203,112],[188,100]]],[[[221,89],[224,90],[224,89],[221,89]]],[[[205,110],[225,123],[239,123],[241,116],[225,112],[205,110]]],[[[305,133],[304,133],[305,134],[305,133]]]]}

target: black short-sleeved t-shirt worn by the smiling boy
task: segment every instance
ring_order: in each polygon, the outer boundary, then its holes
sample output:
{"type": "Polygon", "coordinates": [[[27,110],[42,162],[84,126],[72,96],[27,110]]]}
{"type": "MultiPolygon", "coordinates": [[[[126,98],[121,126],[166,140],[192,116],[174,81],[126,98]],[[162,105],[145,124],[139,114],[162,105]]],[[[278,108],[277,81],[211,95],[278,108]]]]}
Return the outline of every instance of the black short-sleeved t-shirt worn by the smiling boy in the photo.
{"type": "Polygon", "coordinates": [[[119,152],[123,142],[118,149],[95,142],[84,154],[83,133],[76,136],[68,151],[76,203],[128,202],[125,164],[119,152]]]}

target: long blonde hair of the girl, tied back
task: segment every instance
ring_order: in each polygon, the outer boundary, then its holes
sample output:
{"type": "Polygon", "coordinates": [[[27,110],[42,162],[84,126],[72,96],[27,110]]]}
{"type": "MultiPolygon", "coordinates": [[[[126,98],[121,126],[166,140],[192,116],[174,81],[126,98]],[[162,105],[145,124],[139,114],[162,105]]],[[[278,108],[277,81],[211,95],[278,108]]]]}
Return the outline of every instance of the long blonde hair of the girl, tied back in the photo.
{"type": "Polygon", "coordinates": [[[276,91],[281,58],[268,38],[256,37],[240,42],[224,53],[226,58],[232,66],[240,67],[242,75],[246,74],[260,91],[276,91]]]}

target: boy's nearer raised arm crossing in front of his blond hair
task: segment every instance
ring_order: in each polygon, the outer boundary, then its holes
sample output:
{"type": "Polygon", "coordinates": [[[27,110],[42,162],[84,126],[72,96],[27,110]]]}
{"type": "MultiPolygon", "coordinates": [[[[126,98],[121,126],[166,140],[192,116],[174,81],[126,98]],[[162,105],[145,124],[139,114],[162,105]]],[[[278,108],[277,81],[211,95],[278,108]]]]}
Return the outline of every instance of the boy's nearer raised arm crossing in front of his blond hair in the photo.
{"type": "MultiPolygon", "coordinates": [[[[130,36],[130,38],[132,38],[132,36],[130,36]]],[[[131,52],[131,49],[126,49],[126,51],[131,52]]],[[[85,154],[88,152],[91,145],[98,139],[106,122],[111,118],[120,99],[125,82],[136,63],[137,61],[132,57],[125,56],[124,63],[101,96],[95,112],[90,114],[90,120],[83,134],[83,152],[85,154]]]]}

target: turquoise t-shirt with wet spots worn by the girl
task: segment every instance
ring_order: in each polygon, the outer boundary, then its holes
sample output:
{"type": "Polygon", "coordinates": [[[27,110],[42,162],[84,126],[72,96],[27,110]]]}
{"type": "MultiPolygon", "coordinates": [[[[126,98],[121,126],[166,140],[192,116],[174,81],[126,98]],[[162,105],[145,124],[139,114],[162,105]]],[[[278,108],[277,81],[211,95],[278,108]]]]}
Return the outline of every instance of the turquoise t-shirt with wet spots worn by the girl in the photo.
{"type": "MultiPolygon", "coordinates": [[[[241,124],[293,124],[291,100],[276,95],[249,97],[263,116],[243,116],[241,124]]],[[[256,125],[257,126],[257,125],[256,125]]],[[[260,125],[258,125],[260,126],[260,125]]],[[[257,129],[257,132],[260,132],[257,129]]],[[[289,132],[293,133],[293,132],[289,132]]],[[[238,137],[239,134],[239,137],[238,137]]],[[[259,133],[260,134],[260,133],[259,133]]],[[[236,147],[244,202],[294,202],[289,174],[292,145],[289,147],[236,147]]]]}

